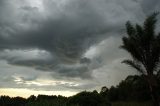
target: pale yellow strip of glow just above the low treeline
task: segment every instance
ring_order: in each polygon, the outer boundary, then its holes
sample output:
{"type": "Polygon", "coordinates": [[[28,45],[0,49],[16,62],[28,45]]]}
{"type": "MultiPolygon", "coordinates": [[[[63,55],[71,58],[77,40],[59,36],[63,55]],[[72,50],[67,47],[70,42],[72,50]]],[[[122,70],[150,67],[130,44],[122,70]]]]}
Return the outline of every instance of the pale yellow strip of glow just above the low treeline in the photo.
{"type": "Polygon", "coordinates": [[[27,98],[30,95],[39,95],[39,94],[43,94],[43,95],[62,95],[62,96],[72,96],[75,95],[77,92],[71,92],[71,91],[36,91],[36,90],[30,90],[30,89],[23,89],[23,88],[0,88],[0,95],[7,95],[10,97],[16,97],[16,96],[20,96],[20,97],[24,97],[27,98]]]}

